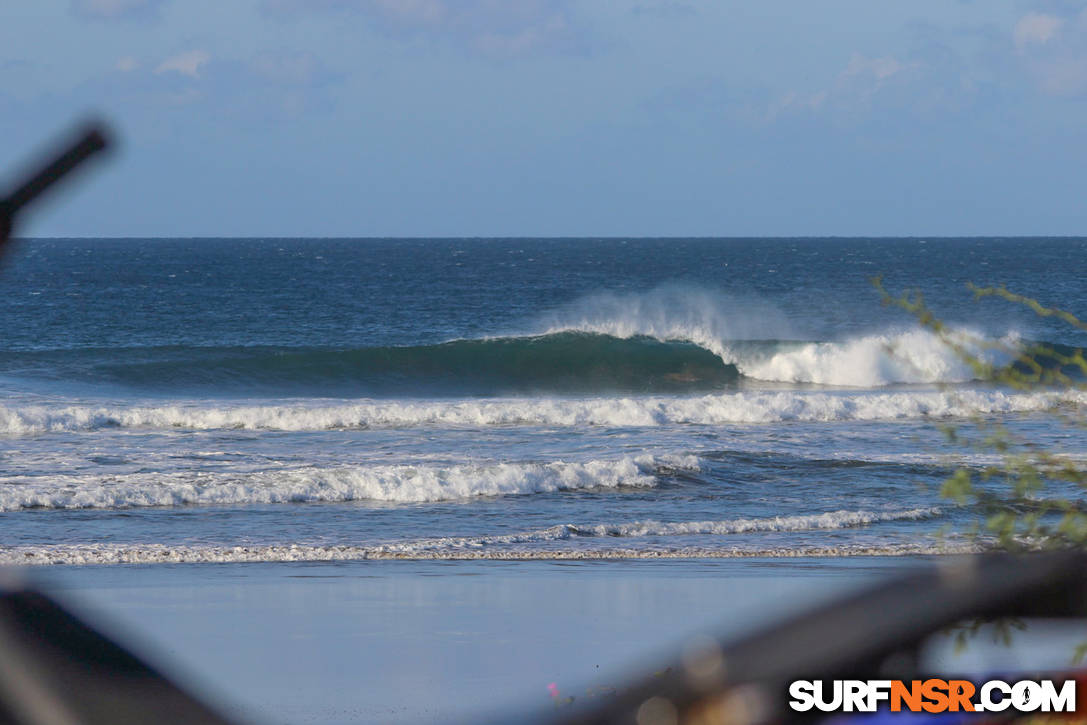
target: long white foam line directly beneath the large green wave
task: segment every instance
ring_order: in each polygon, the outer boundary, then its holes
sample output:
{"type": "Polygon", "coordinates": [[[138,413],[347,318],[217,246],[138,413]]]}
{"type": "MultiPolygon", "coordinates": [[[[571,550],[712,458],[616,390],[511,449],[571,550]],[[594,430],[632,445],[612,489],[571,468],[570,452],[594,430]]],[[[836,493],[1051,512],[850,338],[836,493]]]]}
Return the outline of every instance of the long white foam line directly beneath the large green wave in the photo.
{"type": "Polygon", "coordinates": [[[735,392],[690,398],[308,401],[292,404],[161,405],[5,404],[0,434],[154,428],[185,430],[332,430],[432,426],[645,427],[780,421],[890,421],[1024,413],[1087,404],[1087,391],[1000,390],[735,392]]]}

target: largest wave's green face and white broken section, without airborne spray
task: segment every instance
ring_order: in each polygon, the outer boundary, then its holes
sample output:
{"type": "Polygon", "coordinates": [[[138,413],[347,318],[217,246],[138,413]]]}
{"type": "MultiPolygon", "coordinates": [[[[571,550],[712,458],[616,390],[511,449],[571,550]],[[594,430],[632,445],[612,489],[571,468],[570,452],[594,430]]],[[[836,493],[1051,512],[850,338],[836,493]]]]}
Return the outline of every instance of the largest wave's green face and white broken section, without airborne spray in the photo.
{"type": "MultiPolygon", "coordinates": [[[[650,329],[649,332],[652,332],[650,329]]],[[[682,334],[684,330],[673,330],[682,334]]],[[[744,379],[846,387],[965,383],[974,372],[925,330],[840,342],[621,336],[622,327],[411,347],[127,348],[5,352],[0,373],[142,390],[271,395],[683,393],[744,379]]],[[[1014,347],[1014,340],[1002,345],[1014,347]]],[[[1071,348],[1046,346],[1062,353],[1071,348]]],[[[1000,354],[985,352],[1000,362],[1000,354]]],[[[1004,354],[1004,362],[1010,355],[1004,354]]]]}

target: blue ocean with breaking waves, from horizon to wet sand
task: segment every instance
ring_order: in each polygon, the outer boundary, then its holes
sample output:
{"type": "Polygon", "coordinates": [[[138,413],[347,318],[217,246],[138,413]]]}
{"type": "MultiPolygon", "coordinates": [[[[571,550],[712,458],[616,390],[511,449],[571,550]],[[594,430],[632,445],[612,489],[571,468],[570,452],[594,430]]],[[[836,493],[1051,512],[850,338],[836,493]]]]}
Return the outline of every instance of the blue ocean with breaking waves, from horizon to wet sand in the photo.
{"type": "Polygon", "coordinates": [[[1085,239],[27,239],[0,265],[0,563],[923,554],[952,445],[1082,459],[1085,239]],[[999,355],[986,351],[986,355],[999,355]],[[996,359],[995,362],[1002,361],[996,359]]]}

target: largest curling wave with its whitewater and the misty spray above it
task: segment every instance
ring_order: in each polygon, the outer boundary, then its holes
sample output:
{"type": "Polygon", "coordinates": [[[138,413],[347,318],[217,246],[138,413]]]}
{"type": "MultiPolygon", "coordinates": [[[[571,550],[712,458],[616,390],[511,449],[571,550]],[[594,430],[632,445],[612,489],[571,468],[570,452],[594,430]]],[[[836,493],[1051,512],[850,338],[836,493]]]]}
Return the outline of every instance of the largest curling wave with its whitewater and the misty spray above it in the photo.
{"type": "MultiPolygon", "coordinates": [[[[953,334],[995,365],[1036,345],[1015,334],[953,334]]],[[[804,341],[783,315],[679,285],[592,295],[507,336],[370,347],[127,347],[0,351],[0,375],[148,391],[268,396],[457,397],[708,392],[745,380],[874,388],[966,383],[975,371],[919,328],[804,341]]],[[[1082,371],[1080,375],[1082,377],[1082,371]]]]}

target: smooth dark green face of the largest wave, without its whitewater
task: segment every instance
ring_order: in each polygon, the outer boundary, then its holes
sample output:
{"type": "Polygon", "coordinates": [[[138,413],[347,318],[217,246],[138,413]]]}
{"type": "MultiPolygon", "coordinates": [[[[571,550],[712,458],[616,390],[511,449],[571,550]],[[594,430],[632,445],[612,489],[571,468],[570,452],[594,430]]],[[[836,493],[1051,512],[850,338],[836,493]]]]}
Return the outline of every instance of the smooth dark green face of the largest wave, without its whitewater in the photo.
{"type": "Polygon", "coordinates": [[[691,342],[589,333],[325,348],[128,348],[4,353],[0,371],[148,390],[276,395],[669,392],[724,388],[735,365],[691,342]]]}

